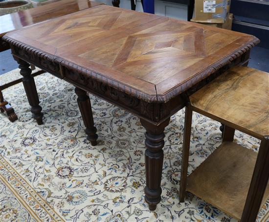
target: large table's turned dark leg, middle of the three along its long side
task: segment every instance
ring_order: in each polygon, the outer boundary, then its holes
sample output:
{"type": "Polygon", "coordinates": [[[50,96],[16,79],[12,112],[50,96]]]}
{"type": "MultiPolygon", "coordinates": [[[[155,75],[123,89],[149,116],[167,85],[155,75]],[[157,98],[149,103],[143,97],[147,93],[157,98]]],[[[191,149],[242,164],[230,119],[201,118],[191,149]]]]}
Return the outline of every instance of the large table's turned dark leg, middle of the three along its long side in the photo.
{"type": "Polygon", "coordinates": [[[82,119],[84,122],[84,125],[86,126],[86,134],[87,139],[90,140],[90,143],[92,146],[97,145],[97,138],[98,135],[96,134],[96,128],[94,127],[93,117],[92,117],[92,111],[91,111],[91,105],[90,105],[90,98],[87,95],[87,92],[80,88],[75,88],[75,93],[77,94],[77,103],[79,110],[82,115],[82,119]]]}

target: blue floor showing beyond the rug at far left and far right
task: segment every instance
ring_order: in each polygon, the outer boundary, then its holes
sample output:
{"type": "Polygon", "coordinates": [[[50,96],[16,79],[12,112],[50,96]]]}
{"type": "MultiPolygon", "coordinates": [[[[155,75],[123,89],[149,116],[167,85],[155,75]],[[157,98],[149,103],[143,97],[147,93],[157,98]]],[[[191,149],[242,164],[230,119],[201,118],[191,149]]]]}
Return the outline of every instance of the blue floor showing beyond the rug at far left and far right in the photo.
{"type": "MultiPolygon", "coordinates": [[[[0,53],[0,74],[9,72],[17,67],[18,64],[10,54],[10,50],[0,53]]],[[[248,67],[269,72],[269,49],[257,46],[252,48],[248,67]]]]}

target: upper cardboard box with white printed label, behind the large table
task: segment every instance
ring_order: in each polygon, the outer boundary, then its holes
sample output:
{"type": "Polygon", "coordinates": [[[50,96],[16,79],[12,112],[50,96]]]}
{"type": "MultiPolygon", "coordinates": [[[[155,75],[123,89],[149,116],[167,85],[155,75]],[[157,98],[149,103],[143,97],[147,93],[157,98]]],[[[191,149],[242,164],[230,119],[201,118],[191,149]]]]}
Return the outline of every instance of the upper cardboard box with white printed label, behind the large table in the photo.
{"type": "Polygon", "coordinates": [[[224,23],[230,11],[230,0],[195,0],[195,22],[224,23]]]}

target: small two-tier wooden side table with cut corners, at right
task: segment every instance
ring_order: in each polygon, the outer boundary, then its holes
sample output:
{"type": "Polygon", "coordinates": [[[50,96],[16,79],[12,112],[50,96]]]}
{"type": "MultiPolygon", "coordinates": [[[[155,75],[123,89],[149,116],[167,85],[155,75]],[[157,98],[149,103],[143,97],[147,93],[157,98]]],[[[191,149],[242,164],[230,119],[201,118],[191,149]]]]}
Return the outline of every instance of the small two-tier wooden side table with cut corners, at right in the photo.
{"type": "Polygon", "coordinates": [[[269,197],[269,73],[234,67],[189,97],[180,202],[186,190],[241,222],[254,222],[269,197]],[[192,111],[225,124],[223,142],[188,177],[192,111]],[[234,129],[261,139],[258,154],[233,142],[234,129]]]}

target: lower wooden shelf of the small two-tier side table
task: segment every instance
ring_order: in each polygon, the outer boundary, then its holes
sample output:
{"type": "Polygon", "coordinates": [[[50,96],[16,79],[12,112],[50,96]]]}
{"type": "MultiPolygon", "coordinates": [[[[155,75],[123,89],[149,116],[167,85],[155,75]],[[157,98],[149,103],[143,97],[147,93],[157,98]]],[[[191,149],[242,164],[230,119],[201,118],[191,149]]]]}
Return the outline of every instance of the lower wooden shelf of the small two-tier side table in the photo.
{"type": "MultiPolygon", "coordinates": [[[[257,153],[223,142],[187,178],[186,190],[240,220],[257,153]]],[[[263,203],[269,198],[267,186],[263,203]]]]}

